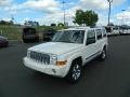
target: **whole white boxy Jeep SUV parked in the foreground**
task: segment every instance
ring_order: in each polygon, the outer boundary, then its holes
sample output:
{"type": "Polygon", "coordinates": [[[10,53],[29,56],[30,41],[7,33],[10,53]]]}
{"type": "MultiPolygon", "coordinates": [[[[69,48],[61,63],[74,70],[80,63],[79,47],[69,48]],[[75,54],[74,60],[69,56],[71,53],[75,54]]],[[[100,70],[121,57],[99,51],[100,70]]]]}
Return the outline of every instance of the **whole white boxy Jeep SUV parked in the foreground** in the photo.
{"type": "Polygon", "coordinates": [[[34,70],[77,82],[82,66],[95,57],[104,60],[107,34],[103,27],[74,27],[57,31],[51,42],[28,48],[24,65],[34,70]]]}

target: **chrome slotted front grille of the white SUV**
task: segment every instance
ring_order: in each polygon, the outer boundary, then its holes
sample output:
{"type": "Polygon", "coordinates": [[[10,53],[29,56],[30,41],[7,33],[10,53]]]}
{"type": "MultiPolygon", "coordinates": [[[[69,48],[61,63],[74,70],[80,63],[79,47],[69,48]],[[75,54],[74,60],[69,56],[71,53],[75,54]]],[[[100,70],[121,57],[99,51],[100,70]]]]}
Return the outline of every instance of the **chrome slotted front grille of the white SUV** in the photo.
{"type": "Polygon", "coordinates": [[[46,65],[50,65],[50,55],[41,54],[37,52],[30,52],[30,58],[35,59],[36,61],[43,63],[46,65]]]}

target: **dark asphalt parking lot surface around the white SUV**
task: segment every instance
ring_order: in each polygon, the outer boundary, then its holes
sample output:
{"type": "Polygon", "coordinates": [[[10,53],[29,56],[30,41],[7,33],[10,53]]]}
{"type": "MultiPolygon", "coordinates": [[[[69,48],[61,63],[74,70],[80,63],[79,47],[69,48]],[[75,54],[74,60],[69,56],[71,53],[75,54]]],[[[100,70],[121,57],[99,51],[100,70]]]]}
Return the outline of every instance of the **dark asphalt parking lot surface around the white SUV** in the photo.
{"type": "Polygon", "coordinates": [[[105,61],[87,64],[76,84],[23,65],[29,46],[11,42],[0,48],[0,97],[130,97],[130,36],[112,37],[105,61]]]}

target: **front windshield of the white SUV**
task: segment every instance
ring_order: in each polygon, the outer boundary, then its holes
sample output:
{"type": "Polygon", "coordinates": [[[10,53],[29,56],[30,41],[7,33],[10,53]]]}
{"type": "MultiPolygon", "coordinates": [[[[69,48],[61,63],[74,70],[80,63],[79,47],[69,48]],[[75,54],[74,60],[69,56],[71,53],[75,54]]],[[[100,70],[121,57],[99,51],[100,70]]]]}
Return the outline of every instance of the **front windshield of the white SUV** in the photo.
{"type": "Polygon", "coordinates": [[[64,30],[54,34],[53,42],[83,43],[84,30],[64,30]]]}

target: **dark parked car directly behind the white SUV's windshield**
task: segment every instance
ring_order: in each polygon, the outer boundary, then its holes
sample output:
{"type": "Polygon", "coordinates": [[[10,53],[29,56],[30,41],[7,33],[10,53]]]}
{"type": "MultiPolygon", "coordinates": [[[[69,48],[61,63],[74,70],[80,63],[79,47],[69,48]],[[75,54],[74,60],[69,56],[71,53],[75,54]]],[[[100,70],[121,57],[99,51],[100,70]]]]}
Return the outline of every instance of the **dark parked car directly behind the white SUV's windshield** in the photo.
{"type": "Polygon", "coordinates": [[[54,33],[56,32],[55,29],[49,28],[43,31],[43,41],[51,41],[54,33]]]}

